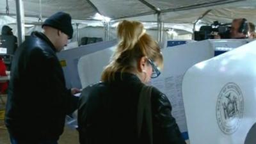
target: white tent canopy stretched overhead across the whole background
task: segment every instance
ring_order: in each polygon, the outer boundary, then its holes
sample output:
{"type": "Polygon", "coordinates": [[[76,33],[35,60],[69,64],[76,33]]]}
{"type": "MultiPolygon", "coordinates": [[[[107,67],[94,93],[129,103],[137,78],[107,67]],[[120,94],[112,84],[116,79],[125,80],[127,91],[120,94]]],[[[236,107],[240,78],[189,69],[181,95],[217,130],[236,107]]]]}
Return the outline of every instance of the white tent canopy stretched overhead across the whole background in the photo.
{"type": "MultiPolygon", "coordinates": [[[[83,29],[90,27],[88,29],[98,29],[95,33],[102,33],[101,37],[104,33],[104,24],[100,20],[93,20],[95,13],[110,17],[111,28],[115,28],[117,22],[122,19],[130,19],[140,20],[145,28],[156,31],[156,11],[160,10],[161,20],[164,22],[164,33],[166,34],[168,29],[175,29],[178,35],[193,33],[194,22],[209,10],[211,11],[197,23],[196,30],[201,25],[211,24],[214,20],[230,23],[235,18],[246,18],[256,24],[256,0],[41,0],[41,4],[40,0],[22,1],[27,24],[26,35],[33,30],[40,31],[41,22],[38,22],[40,15],[42,15],[42,20],[45,20],[49,15],[58,11],[68,12],[72,15],[74,29],[76,31],[76,24],[79,24],[80,35],[88,35],[84,34],[83,29]]],[[[13,33],[17,34],[15,15],[15,0],[1,0],[0,29],[3,25],[9,25],[13,28],[13,33]],[[8,16],[6,15],[6,1],[8,1],[10,10],[8,16]]],[[[109,33],[110,39],[115,38],[113,31],[109,33]]],[[[157,37],[157,33],[154,35],[157,37]]],[[[76,40],[76,37],[75,32],[73,40],[76,40]]]]}

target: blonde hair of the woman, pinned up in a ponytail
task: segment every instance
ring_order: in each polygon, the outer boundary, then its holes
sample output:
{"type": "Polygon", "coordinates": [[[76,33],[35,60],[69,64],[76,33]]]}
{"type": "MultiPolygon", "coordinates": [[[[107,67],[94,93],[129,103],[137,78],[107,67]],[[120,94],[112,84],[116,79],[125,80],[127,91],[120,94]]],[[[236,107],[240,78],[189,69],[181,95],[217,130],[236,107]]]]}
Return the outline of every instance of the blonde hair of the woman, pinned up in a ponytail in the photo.
{"type": "Polygon", "coordinates": [[[141,22],[123,20],[118,24],[117,36],[119,43],[111,62],[102,72],[102,81],[114,80],[115,72],[136,71],[136,61],[143,56],[157,60],[162,65],[160,48],[157,42],[145,33],[141,22]]]}

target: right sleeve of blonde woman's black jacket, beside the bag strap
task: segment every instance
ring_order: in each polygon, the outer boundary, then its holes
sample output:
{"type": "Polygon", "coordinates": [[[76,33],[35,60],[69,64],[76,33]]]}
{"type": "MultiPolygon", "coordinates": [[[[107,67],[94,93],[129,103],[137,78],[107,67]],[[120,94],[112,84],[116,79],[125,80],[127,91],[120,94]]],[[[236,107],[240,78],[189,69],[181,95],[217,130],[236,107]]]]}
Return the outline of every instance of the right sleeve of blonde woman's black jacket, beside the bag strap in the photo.
{"type": "Polygon", "coordinates": [[[172,106],[166,95],[153,88],[151,100],[154,143],[186,144],[172,116],[172,106]]]}

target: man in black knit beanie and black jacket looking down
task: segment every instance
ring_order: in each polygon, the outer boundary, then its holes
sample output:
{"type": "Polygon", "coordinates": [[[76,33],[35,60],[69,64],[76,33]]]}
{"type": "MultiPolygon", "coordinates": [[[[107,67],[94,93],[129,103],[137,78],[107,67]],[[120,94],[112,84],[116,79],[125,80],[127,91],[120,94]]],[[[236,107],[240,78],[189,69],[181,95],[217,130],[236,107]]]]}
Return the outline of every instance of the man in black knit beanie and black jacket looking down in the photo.
{"type": "Polygon", "coordinates": [[[33,32],[13,58],[5,124],[12,144],[56,144],[65,115],[77,109],[77,88],[67,90],[56,52],[72,38],[68,13],[45,20],[42,33],[33,32]]]}

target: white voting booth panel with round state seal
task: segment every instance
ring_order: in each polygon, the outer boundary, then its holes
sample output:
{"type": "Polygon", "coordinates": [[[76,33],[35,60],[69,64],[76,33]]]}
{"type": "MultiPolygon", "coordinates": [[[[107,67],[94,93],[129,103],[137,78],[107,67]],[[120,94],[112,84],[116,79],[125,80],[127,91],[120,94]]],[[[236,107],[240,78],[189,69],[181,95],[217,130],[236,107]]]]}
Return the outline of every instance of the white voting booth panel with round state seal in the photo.
{"type": "Polygon", "coordinates": [[[189,68],[182,95],[191,144],[256,143],[255,63],[256,41],[189,68]]]}

